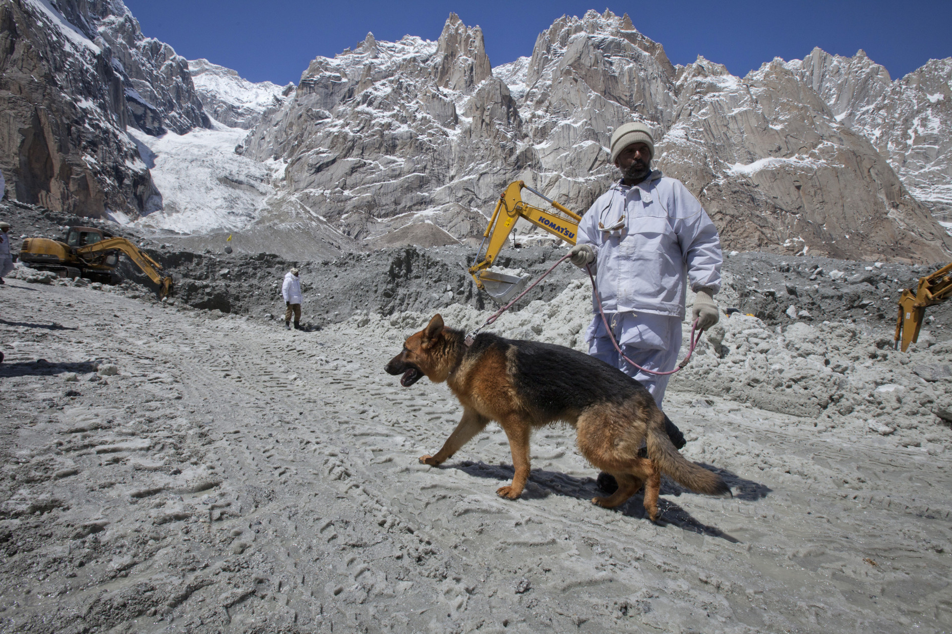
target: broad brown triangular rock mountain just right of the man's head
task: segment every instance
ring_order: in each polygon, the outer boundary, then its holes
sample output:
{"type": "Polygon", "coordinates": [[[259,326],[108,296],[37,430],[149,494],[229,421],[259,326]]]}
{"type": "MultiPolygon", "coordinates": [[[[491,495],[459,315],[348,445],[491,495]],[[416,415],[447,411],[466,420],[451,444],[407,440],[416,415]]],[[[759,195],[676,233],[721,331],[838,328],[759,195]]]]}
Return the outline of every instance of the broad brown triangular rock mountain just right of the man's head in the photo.
{"type": "Polygon", "coordinates": [[[938,261],[952,245],[869,140],[780,60],[743,79],[703,59],[682,68],[658,152],[733,249],[938,261]]]}

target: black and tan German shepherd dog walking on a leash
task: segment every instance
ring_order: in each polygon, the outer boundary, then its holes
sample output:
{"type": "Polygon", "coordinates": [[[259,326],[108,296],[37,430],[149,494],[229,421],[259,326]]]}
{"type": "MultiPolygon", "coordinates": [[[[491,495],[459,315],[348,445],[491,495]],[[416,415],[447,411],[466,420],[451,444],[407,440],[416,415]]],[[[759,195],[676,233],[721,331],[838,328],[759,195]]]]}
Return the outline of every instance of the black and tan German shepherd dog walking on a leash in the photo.
{"type": "Polygon", "coordinates": [[[612,509],[645,485],[645,510],[658,518],[664,472],[687,489],[730,493],[724,480],[684,459],[664,432],[664,413],[645,386],[607,363],[576,350],[538,341],[481,334],[466,347],[462,331],[436,315],[387,363],[387,374],[403,375],[405,388],[426,375],[446,381],[463,406],[459,425],[436,455],[420,462],[439,465],[459,451],[490,420],[509,439],[512,484],[496,491],[514,500],[529,475],[533,428],[565,421],[576,429],[579,451],[594,467],[615,476],[618,490],[592,502],[612,509]],[[647,457],[639,449],[647,442],[647,457]]]}

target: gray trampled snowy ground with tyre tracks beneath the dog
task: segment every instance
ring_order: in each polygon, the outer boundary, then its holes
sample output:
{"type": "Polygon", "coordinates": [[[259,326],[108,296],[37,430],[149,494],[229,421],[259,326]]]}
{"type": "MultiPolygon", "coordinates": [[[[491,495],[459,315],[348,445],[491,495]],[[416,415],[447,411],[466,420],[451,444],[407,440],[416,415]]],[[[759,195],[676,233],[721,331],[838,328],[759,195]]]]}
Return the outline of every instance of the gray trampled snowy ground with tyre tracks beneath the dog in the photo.
{"type": "MultiPolygon", "coordinates": [[[[0,293],[38,316],[0,324],[5,625],[947,628],[948,452],[669,392],[685,454],[733,499],[665,481],[659,525],[638,496],[597,509],[594,470],[554,426],[533,436],[526,493],[508,502],[494,492],[512,472],[498,426],[442,468],[417,463],[459,408],[445,386],[405,390],[382,369],[428,315],[300,333],[123,287],[14,279],[0,293]]],[[[550,315],[571,330],[586,299],[579,285],[497,323],[550,315]]],[[[486,315],[454,310],[447,322],[467,327],[486,315]]]]}

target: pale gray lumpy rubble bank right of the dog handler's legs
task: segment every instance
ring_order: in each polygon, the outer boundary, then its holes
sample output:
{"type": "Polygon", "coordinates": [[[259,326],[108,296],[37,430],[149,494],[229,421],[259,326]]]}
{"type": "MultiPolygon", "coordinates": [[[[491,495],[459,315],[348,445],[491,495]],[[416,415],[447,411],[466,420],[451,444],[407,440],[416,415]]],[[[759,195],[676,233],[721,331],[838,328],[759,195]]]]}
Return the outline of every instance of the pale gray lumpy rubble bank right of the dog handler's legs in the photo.
{"type": "Polygon", "coordinates": [[[704,336],[670,389],[814,417],[818,432],[842,427],[935,452],[952,448],[950,361],[949,342],[936,344],[927,331],[902,353],[892,336],[864,335],[855,324],[771,328],[736,315],[704,336]]]}

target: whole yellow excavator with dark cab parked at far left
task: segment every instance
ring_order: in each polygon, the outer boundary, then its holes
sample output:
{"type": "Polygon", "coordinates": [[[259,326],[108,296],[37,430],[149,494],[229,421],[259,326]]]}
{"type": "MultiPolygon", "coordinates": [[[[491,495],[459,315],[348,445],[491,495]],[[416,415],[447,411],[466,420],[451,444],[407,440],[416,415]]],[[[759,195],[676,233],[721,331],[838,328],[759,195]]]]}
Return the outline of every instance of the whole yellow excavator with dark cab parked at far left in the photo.
{"type": "Polygon", "coordinates": [[[162,265],[149,258],[139,247],[95,227],[69,227],[60,240],[28,238],[20,248],[20,261],[31,269],[52,271],[61,278],[88,278],[93,281],[111,279],[119,264],[119,253],[125,253],[142,272],[159,285],[159,297],[172,292],[172,279],[159,274],[162,265]]]}

